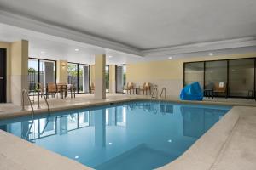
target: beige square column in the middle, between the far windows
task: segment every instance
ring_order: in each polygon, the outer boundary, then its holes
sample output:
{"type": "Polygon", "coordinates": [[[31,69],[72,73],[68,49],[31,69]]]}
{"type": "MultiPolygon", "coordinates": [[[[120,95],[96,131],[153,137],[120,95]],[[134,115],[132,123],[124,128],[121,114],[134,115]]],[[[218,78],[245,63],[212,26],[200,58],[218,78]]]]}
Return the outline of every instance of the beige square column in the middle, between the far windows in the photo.
{"type": "Polygon", "coordinates": [[[106,81],[105,81],[106,55],[95,56],[95,98],[106,99],[106,81]]]}

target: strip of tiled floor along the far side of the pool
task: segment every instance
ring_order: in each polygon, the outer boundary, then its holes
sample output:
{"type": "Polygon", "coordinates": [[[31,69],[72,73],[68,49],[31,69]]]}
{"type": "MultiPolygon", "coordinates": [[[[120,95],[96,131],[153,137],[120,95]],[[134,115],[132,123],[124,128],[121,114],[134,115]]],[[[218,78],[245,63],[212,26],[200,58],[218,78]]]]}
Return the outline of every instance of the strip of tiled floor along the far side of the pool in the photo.
{"type": "MultiPolygon", "coordinates": [[[[48,100],[51,111],[63,110],[68,108],[82,107],[87,105],[102,105],[109,102],[125,101],[129,99],[151,99],[150,95],[128,95],[128,94],[107,94],[106,99],[95,99],[94,94],[77,94],[76,98],[66,99],[52,98],[48,100]]],[[[166,96],[166,100],[173,102],[191,103],[191,101],[181,101],[177,96],[166,96]]],[[[256,106],[256,101],[253,99],[224,99],[224,98],[205,98],[203,102],[193,101],[195,104],[216,104],[216,105],[241,105],[241,106],[256,106]]],[[[37,97],[33,103],[35,111],[46,111],[47,105],[43,98],[40,98],[40,110],[38,110],[37,97]]],[[[0,104],[0,119],[6,118],[6,116],[15,114],[16,116],[28,115],[30,113],[30,106],[26,107],[27,111],[21,111],[20,105],[13,104],[0,104]]]]}

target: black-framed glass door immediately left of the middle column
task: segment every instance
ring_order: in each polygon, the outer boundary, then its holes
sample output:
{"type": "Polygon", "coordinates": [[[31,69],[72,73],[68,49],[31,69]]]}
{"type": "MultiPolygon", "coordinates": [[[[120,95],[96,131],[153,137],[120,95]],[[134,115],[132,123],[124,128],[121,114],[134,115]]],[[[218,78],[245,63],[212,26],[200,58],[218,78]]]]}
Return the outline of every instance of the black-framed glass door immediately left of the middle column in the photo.
{"type": "Polygon", "coordinates": [[[73,84],[73,87],[76,88],[76,93],[89,93],[90,65],[68,63],[67,72],[67,82],[73,84]]]}

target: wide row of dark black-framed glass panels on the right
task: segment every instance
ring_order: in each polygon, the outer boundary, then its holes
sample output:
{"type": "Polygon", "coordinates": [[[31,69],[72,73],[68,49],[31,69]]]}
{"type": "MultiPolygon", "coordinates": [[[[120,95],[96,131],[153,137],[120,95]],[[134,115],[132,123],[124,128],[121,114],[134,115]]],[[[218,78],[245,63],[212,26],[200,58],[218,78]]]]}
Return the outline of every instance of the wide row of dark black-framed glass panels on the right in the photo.
{"type": "Polygon", "coordinates": [[[184,63],[184,83],[200,82],[204,89],[225,88],[218,96],[255,97],[256,59],[224,59],[184,63]]]}

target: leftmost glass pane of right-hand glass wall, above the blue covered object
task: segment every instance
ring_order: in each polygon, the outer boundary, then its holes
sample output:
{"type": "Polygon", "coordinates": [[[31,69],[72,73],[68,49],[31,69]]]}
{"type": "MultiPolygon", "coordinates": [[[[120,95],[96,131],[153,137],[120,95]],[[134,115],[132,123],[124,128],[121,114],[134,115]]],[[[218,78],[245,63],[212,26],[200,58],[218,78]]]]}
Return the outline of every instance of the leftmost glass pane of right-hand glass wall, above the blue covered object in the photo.
{"type": "Polygon", "coordinates": [[[201,88],[204,88],[204,62],[185,63],[184,85],[192,82],[199,82],[201,88]]]}

